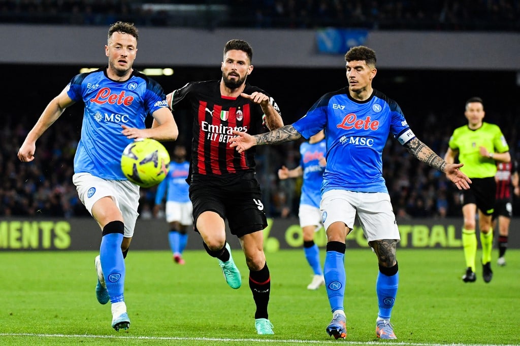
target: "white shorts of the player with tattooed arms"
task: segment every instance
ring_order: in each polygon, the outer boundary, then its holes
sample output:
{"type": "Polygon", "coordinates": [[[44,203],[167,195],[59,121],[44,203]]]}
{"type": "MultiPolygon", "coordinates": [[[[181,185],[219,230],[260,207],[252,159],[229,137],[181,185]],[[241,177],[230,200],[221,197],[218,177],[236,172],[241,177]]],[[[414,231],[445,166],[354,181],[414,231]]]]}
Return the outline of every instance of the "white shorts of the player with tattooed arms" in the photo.
{"type": "Polygon", "coordinates": [[[337,221],[353,229],[357,216],[369,242],[401,239],[390,196],[387,193],[329,190],[321,197],[320,210],[326,230],[337,221]]]}

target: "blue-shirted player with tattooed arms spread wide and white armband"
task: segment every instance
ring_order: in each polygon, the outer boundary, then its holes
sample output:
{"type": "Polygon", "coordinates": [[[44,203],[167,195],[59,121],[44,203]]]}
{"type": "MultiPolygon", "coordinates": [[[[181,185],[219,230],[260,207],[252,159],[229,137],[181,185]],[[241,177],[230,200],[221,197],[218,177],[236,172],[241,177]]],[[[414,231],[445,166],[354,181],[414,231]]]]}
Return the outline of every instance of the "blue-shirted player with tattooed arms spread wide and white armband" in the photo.
{"type": "Polygon", "coordinates": [[[320,210],[327,230],[323,271],[332,310],[326,331],[336,339],[346,337],[345,237],[357,218],[379,262],[376,336],[396,339],[390,317],[399,281],[396,246],[400,237],[382,174],[381,156],[388,135],[392,134],[420,161],[446,172],[459,189],[469,189],[471,181],[459,171],[462,164],[446,163],[415,137],[394,100],[372,88],[377,72],[372,49],[353,47],[345,60],[348,87],[323,95],[292,125],[255,136],[233,131],[237,137],[231,139],[230,147],[242,153],[254,145],[309,138],[325,130],[327,166],[320,210]]]}

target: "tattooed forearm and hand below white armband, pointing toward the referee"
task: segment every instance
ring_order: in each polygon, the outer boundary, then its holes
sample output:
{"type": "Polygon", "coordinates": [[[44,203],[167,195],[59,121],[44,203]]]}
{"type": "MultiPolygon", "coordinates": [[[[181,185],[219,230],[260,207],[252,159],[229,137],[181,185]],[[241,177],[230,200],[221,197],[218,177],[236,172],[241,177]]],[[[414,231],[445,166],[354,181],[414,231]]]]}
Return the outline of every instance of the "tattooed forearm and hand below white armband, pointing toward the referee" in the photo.
{"type": "Polygon", "coordinates": [[[467,190],[470,188],[471,180],[463,172],[459,170],[463,164],[449,164],[439,155],[430,149],[419,139],[414,138],[405,144],[408,151],[415,157],[426,163],[427,165],[445,172],[446,177],[451,180],[459,190],[467,190]]]}

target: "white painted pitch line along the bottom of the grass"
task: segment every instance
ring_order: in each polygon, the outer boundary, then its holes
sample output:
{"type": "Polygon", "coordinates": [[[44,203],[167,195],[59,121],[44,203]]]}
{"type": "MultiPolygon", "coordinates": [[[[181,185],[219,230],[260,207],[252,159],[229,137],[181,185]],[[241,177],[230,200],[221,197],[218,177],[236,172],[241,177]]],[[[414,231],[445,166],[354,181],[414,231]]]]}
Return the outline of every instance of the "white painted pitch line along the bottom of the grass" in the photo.
{"type": "MultiPolygon", "coordinates": [[[[90,338],[90,339],[134,339],[134,340],[178,340],[178,341],[226,341],[226,342],[270,342],[270,343],[334,343],[356,345],[381,345],[380,341],[336,341],[336,340],[296,340],[296,339],[231,339],[231,338],[189,338],[189,337],[148,337],[148,336],[115,336],[115,335],[80,335],[80,334],[32,334],[32,333],[0,333],[6,337],[43,337],[43,338],[90,338]]],[[[493,343],[422,343],[422,342],[392,342],[392,345],[403,346],[517,346],[513,344],[493,343]]]]}

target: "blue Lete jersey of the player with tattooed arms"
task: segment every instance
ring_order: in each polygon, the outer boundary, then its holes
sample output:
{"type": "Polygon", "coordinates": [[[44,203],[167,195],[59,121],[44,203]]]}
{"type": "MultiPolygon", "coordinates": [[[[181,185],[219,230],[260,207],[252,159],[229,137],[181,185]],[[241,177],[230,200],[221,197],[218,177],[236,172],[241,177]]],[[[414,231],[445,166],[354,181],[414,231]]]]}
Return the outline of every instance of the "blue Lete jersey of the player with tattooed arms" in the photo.
{"type": "Polygon", "coordinates": [[[322,193],[388,193],[382,163],[388,135],[391,133],[401,144],[415,138],[399,105],[375,89],[365,101],[350,97],[348,88],[329,92],[293,126],[305,138],[325,130],[327,167],[322,193]]]}

